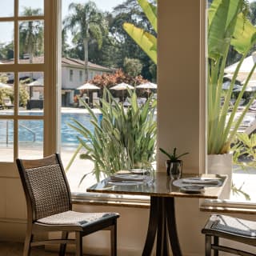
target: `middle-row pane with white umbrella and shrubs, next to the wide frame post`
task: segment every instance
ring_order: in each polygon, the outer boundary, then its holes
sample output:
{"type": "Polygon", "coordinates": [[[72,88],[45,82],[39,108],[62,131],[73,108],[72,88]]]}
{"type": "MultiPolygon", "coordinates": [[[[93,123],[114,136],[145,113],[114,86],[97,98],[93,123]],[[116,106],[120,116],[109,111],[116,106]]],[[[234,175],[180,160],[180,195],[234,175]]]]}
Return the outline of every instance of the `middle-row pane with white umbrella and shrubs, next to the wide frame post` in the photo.
{"type": "Polygon", "coordinates": [[[19,73],[18,114],[42,115],[44,78],[42,72],[19,73]]]}

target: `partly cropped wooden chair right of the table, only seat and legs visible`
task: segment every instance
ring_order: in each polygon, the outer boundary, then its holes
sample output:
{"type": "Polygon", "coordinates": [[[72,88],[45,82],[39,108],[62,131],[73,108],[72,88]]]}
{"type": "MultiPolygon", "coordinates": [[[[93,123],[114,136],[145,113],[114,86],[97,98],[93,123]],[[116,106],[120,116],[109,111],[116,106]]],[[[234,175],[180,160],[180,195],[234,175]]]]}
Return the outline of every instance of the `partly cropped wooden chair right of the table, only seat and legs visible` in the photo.
{"type": "Polygon", "coordinates": [[[211,250],[214,250],[214,256],[218,256],[219,250],[242,256],[256,256],[255,250],[250,253],[219,245],[219,238],[225,238],[256,247],[256,222],[226,215],[212,215],[202,229],[202,234],[206,234],[206,256],[210,256],[211,250]]]}

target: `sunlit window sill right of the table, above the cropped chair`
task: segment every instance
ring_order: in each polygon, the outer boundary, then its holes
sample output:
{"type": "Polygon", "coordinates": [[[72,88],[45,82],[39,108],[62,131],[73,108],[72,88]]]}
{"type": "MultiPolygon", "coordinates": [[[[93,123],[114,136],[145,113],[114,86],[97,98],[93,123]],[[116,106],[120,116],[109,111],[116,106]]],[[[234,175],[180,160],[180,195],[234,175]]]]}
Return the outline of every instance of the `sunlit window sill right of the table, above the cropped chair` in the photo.
{"type": "Polygon", "coordinates": [[[206,200],[200,206],[200,210],[224,214],[256,214],[256,204],[250,202],[206,200]]]}

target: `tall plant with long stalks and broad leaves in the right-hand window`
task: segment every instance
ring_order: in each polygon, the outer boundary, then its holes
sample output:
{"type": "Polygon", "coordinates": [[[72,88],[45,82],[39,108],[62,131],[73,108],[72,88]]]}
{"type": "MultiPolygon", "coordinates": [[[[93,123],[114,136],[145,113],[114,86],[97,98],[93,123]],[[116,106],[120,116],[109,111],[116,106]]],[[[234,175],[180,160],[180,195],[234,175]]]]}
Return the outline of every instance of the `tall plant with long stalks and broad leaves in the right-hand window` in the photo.
{"type": "Polygon", "coordinates": [[[254,97],[246,105],[240,117],[235,120],[239,103],[256,65],[250,70],[242,91],[234,103],[230,114],[230,98],[234,82],[238,76],[244,58],[254,46],[256,28],[246,19],[247,5],[245,0],[214,0],[208,10],[208,154],[225,154],[230,150],[230,143],[240,126],[254,97]],[[230,47],[242,54],[242,58],[234,71],[222,105],[222,83],[230,47]]]}

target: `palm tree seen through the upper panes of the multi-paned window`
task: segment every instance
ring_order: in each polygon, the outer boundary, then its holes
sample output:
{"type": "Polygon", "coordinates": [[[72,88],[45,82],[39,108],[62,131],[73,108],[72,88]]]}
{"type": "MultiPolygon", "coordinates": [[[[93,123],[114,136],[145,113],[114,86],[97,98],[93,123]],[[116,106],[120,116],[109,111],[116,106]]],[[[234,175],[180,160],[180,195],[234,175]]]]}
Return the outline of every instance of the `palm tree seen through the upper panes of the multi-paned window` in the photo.
{"type": "MultiPolygon", "coordinates": [[[[25,7],[22,16],[38,16],[41,9],[25,7]]],[[[34,54],[42,54],[43,50],[43,27],[42,21],[26,21],[19,25],[20,54],[29,54],[30,63],[33,62],[34,54]]]]}

